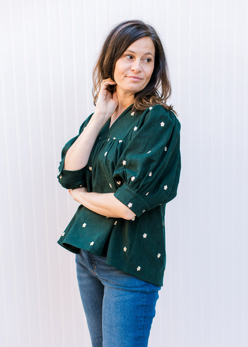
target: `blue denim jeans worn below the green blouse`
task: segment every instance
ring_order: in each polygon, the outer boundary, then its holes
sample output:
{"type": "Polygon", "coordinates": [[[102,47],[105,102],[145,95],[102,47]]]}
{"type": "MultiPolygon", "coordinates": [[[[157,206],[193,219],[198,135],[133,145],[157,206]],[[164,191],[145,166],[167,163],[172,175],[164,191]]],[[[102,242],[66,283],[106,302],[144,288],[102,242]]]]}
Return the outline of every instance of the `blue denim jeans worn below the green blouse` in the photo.
{"type": "Polygon", "coordinates": [[[160,287],[82,249],[76,268],[92,347],[147,347],[160,287]]]}

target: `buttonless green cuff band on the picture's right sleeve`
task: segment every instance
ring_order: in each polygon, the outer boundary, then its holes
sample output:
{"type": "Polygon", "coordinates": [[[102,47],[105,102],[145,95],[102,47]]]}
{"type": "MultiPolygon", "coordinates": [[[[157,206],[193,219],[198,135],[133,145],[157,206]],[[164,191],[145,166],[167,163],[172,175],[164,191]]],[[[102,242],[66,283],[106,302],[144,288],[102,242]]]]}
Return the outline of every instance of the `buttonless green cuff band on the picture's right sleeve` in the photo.
{"type": "Polygon", "coordinates": [[[151,209],[148,202],[142,196],[135,193],[128,185],[123,184],[115,192],[115,197],[125,206],[129,207],[137,217],[140,217],[145,211],[151,209]]]}

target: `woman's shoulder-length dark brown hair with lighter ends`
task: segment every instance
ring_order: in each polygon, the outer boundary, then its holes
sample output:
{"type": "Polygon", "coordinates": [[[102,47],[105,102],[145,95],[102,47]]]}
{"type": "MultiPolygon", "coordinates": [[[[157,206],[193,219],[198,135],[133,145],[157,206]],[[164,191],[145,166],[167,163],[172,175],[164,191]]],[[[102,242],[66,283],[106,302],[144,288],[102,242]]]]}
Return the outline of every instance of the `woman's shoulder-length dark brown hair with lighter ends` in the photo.
{"type": "Polygon", "coordinates": [[[117,60],[133,42],[142,37],[150,37],[155,46],[154,70],[147,86],[134,95],[133,111],[146,110],[156,104],[168,110],[173,109],[173,106],[166,103],[171,96],[171,83],[163,45],[154,28],[140,20],[128,20],[118,24],[105,40],[93,69],[94,104],[102,80],[107,78],[114,80],[117,60]]]}

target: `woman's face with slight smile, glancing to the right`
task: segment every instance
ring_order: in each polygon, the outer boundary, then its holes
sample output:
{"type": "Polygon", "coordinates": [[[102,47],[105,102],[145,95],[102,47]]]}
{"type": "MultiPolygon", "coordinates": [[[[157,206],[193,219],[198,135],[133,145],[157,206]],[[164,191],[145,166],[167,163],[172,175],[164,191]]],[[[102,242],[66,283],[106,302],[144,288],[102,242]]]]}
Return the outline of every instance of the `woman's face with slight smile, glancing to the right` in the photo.
{"type": "Polygon", "coordinates": [[[150,37],[132,43],[116,62],[117,93],[135,94],[144,89],[154,69],[154,58],[155,47],[150,37]]]}

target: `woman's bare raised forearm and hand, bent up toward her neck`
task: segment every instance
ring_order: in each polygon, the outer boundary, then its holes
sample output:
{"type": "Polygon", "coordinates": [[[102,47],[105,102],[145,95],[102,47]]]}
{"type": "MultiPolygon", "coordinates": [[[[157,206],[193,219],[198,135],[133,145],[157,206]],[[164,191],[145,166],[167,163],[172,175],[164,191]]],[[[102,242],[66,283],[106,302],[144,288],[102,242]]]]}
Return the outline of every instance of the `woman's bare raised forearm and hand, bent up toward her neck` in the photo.
{"type": "Polygon", "coordinates": [[[118,106],[116,92],[111,94],[108,90],[109,85],[115,84],[116,82],[112,81],[110,78],[103,80],[96,103],[95,113],[92,115],[82,133],[68,149],[64,160],[64,170],[80,170],[87,165],[91,150],[100,130],[106,121],[113,115],[118,106]]]}

